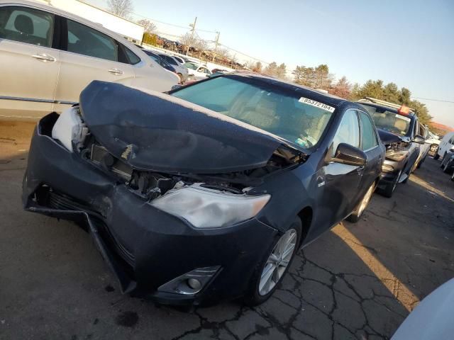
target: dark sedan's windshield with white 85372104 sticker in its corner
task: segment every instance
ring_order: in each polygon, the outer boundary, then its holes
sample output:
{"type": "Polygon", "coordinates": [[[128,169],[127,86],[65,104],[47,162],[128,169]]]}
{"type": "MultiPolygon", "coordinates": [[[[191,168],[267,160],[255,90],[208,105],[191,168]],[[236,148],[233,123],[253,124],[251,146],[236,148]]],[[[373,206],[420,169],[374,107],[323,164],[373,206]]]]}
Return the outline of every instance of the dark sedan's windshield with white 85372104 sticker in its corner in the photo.
{"type": "Polygon", "coordinates": [[[203,81],[179,89],[172,96],[223,113],[304,148],[319,142],[334,111],[331,106],[291,96],[275,86],[250,84],[231,77],[203,81]]]}

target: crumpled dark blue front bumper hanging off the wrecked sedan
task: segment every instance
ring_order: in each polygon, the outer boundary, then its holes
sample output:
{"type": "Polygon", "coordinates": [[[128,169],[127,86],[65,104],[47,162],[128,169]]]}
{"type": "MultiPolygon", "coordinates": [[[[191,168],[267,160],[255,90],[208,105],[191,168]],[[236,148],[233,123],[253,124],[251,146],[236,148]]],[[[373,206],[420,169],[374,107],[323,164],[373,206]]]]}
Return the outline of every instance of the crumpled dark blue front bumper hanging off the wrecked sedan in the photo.
{"type": "Polygon", "coordinates": [[[33,134],[23,181],[26,210],[86,225],[123,293],[165,304],[210,304],[245,293],[275,229],[255,218],[196,229],[53,140],[54,120],[46,116],[33,134]],[[160,290],[204,268],[214,269],[197,293],[160,290]]]}

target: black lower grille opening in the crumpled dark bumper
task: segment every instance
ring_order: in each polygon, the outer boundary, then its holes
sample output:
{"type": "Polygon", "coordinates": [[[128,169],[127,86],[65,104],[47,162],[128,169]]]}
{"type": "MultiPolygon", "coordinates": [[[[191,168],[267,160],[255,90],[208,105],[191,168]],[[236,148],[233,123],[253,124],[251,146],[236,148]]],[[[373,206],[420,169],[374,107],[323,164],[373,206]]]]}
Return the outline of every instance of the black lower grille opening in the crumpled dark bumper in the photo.
{"type": "Polygon", "coordinates": [[[109,228],[106,227],[104,221],[101,220],[101,215],[99,215],[99,213],[90,210],[89,208],[87,208],[87,205],[84,205],[84,203],[80,203],[77,200],[70,198],[69,196],[55,193],[55,191],[51,190],[48,191],[47,201],[49,208],[52,209],[77,210],[87,212],[87,214],[91,217],[90,220],[97,227],[102,239],[104,239],[104,242],[106,242],[109,248],[111,248],[111,250],[114,250],[114,253],[118,254],[118,256],[123,261],[128,263],[128,266],[131,266],[131,269],[134,268],[135,256],[126,248],[126,246],[123,246],[121,242],[118,242],[116,237],[114,237],[114,235],[110,232],[109,228]]]}

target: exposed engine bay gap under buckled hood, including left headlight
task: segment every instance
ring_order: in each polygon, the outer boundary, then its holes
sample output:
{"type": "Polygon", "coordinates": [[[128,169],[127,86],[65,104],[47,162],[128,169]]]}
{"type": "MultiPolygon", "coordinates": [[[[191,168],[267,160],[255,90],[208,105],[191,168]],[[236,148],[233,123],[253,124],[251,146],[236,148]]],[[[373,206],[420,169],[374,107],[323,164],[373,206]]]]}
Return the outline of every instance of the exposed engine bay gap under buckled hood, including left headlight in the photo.
{"type": "Polygon", "coordinates": [[[52,138],[59,140],[64,147],[78,153],[87,162],[91,162],[119,183],[126,184],[131,191],[149,201],[172,189],[194,185],[243,196],[250,188],[259,186],[266,176],[297,166],[305,160],[305,155],[301,152],[281,145],[272,153],[265,166],[255,169],[221,174],[143,171],[128,164],[131,147],[124,149],[120,159],[96,140],[84,122],[79,106],[74,106],[60,115],[52,128],[52,138]]]}

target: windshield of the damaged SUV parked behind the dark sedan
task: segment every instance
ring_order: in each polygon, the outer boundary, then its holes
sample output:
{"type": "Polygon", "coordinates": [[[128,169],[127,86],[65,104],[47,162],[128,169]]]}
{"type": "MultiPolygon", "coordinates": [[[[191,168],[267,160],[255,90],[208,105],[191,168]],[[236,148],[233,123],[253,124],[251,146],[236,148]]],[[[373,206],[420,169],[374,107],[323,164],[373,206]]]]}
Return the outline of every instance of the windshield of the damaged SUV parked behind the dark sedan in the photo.
{"type": "Polygon", "coordinates": [[[397,133],[398,135],[406,135],[410,129],[411,119],[405,115],[387,111],[384,108],[375,108],[361,103],[367,111],[369,111],[372,118],[374,118],[377,128],[389,132],[397,133]]]}

